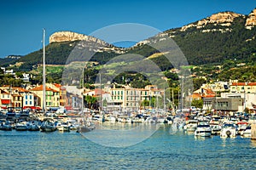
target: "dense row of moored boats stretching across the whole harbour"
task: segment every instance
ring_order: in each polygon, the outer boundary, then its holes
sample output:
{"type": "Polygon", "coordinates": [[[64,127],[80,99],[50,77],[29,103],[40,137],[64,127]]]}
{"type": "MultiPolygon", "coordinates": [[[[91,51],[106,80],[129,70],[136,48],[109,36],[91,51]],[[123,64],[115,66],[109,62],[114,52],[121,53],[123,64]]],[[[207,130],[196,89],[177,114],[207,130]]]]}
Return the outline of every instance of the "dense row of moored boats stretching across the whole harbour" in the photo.
{"type": "MultiPolygon", "coordinates": [[[[8,117],[7,117],[8,118],[8,117]]],[[[99,115],[87,114],[71,117],[67,115],[43,116],[41,120],[16,122],[8,119],[0,119],[0,130],[17,131],[41,131],[41,132],[89,132],[95,128],[95,122],[120,122],[120,123],[160,123],[171,124],[172,129],[183,129],[195,136],[209,137],[220,135],[221,138],[236,138],[237,135],[243,137],[251,136],[251,124],[256,122],[256,116],[203,116],[196,114],[191,116],[172,115],[150,115],[137,114],[134,116],[117,116],[112,114],[99,115]]]]}

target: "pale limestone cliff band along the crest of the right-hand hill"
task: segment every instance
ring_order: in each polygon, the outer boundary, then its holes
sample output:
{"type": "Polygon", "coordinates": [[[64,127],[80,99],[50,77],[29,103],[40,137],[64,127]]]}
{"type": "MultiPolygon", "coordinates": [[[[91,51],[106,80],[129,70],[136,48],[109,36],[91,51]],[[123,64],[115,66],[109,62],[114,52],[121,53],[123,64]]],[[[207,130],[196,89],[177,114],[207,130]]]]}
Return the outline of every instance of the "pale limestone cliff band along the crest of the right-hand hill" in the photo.
{"type": "Polygon", "coordinates": [[[194,24],[189,24],[187,26],[183,26],[181,31],[186,31],[190,27],[196,27],[197,29],[203,28],[208,24],[220,25],[220,26],[231,26],[231,23],[234,21],[236,17],[241,17],[244,15],[236,14],[233,12],[223,12],[218,14],[212,14],[212,16],[207,17],[206,19],[199,20],[194,24]]]}

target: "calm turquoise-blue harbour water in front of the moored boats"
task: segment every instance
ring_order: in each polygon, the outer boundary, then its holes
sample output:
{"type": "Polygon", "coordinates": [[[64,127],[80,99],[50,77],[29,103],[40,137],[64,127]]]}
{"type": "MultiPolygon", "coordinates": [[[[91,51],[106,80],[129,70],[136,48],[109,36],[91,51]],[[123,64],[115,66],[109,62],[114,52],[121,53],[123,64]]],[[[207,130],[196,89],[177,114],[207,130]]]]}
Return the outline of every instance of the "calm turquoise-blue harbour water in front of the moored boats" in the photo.
{"type": "Polygon", "coordinates": [[[79,133],[0,131],[0,169],[256,169],[256,141],[195,138],[160,127],[125,148],[95,144],[79,133]]]}

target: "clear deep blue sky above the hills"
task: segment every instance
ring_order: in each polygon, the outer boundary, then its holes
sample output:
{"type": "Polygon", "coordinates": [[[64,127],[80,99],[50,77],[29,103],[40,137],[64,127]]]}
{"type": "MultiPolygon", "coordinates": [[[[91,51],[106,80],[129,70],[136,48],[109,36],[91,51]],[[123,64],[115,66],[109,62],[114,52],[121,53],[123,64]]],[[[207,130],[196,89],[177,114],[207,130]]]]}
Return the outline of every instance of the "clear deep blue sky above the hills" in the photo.
{"type": "Polygon", "coordinates": [[[0,57],[42,48],[42,29],[90,34],[104,26],[139,23],[160,31],[223,11],[249,14],[256,0],[1,0],[0,57]]]}

